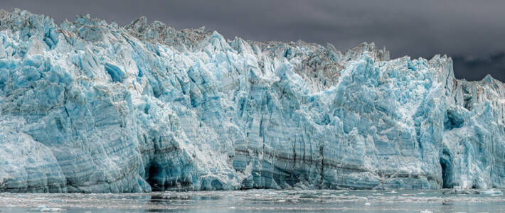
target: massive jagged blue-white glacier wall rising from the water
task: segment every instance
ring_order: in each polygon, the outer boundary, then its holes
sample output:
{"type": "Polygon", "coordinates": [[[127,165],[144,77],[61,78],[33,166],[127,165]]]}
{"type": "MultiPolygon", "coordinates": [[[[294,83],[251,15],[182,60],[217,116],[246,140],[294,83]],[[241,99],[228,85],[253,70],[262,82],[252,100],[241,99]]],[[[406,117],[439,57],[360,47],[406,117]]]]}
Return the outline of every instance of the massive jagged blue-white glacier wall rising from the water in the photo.
{"type": "Polygon", "coordinates": [[[363,43],[0,11],[0,192],[505,187],[505,84],[363,43]]]}

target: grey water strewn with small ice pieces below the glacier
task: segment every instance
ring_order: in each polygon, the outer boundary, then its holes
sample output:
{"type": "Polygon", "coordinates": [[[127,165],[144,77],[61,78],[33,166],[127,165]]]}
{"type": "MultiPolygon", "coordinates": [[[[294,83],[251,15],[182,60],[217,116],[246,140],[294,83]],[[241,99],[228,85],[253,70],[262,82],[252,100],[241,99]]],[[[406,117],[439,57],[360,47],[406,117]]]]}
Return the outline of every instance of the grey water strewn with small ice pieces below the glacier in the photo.
{"type": "Polygon", "coordinates": [[[502,190],[0,193],[1,212],[505,212],[502,190]]]}

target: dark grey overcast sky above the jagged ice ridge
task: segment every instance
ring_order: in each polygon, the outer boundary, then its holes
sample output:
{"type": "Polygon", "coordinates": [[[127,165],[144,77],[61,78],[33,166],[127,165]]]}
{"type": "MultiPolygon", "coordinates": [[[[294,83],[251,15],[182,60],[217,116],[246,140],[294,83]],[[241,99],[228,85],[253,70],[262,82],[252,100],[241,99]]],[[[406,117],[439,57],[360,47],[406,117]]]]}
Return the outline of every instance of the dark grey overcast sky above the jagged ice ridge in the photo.
{"type": "Polygon", "coordinates": [[[454,60],[458,78],[485,75],[505,82],[505,1],[25,1],[0,0],[0,9],[26,9],[56,21],[87,14],[121,25],[147,16],[174,28],[216,30],[233,39],[305,40],[339,50],[363,41],[386,46],[392,58],[454,60]]]}

